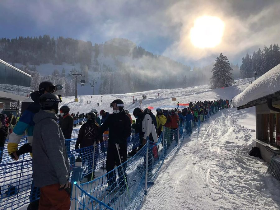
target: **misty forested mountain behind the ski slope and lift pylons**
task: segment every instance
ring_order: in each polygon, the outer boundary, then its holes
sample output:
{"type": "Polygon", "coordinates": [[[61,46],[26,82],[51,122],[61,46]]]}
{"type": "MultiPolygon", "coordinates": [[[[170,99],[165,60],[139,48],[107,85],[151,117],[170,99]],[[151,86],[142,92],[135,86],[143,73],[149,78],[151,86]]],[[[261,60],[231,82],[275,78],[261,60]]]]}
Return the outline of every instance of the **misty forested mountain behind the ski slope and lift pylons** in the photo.
{"type": "MultiPolygon", "coordinates": [[[[212,70],[192,70],[190,66],[154,55],[132,41],[120,38],[94,45],[71,38],[50,38],[49,35],[11,40],[1,38],[0,59],[36,77],[54,74],[54,71],[82,71],[84,76],[80,78],[88,81],[86,87],[82,87],[82,95],[92,93],[89,84],[92,79],[96,79],[95,94],[97,90],[100,94],[117,94],[207,84],[212,70]]],[[[58,75],[56,80],[72,80],[69,75],[64,76],[58,75]]],[[[35,87],[37,83],[34,82],[35,87]]],[[[71,94],[72,91],[68,90],[63,93],[71,94]]]]}

